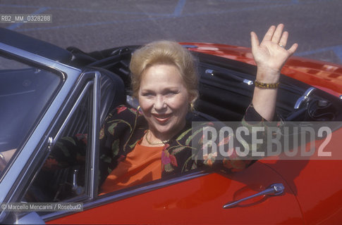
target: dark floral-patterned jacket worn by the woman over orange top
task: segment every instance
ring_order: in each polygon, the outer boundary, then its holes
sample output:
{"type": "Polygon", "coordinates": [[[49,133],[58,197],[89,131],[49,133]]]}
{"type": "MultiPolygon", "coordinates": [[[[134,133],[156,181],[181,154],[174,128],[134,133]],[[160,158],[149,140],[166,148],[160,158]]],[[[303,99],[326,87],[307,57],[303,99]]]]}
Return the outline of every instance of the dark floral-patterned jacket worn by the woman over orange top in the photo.
{"type": "MultiPolygon", "coordinates": [[[[243,117],[242,124],[244,127],[252,129],[253,126],[267,126],[267,121],[250,105],[243,117]]],[[[224,172],[236,172],[254,162],[254,160],[240,160],[235,151],[229,158],[220,158],[220,160],[216,159],[215,153],[203,154],[202,130],[208,126],[212,126],[212,124],[204,122],[202,126],[193,128],[191,123],[188,123],[182,131],[166,143],[161,153],[162,177],[203,166],[220,169],[224,172]],[[193,141],[197,143],[196,148],[193,147],[193,141]]],[[[106,176],[118,165],[118,162],[124,160],[126,155],[135,148],[135,144],[142,139],[147,129],[145,118],[137,110],[128,108],[126,105],[119,105],[109,113],[99,134],[99,184],[102,184],[106,176]]],[[[73,165],[75,161],[84,159],[86,138],[86,135],[63,138],[52,150],[47,162],[57,161],[61,166],[63,163],[73,165]],[[65,157],[66,155],[68,157],[65,157]]],[[[224,147],[228,150],[228,142],[231,138],[231,136],[227,136],[220,140],[217,146],[226,145],[224,147]]],[[[51,167],[51,163],[47,163],[44,167],[51,167]]]]}

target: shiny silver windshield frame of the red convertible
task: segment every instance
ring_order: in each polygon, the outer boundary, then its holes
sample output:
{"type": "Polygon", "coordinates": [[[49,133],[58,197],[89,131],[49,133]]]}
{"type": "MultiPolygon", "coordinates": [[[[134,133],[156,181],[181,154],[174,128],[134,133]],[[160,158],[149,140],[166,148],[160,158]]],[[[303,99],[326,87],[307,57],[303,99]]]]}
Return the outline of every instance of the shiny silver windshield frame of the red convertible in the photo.
{"type": "MultiPolygon", "coordinates": [[[[68,65],[59,63],[58,61],[50,60],[35,53],[23,51],[13,46],[0,43],[0,54],[5,58],[18,60],[20,63],[32,65],[35,68],[41,68],[54,72],[61,77],[61,84],[51,96],[47,108],[44,109],[38,121],[35,122],[35,127],[30,131],[27,139],[19,146],[11,161],[8,163],[4,172],[0,177],[0,203],[16,202],[18,195],[23,190],[20,189],[20,184],[25,181],[25,175],[32,173],[32,158],[37,155],[37,146],[42,143],[47,143],[49,139],[46,136],[47,130],[54,123],[56,115],[63,106],[64,101],[72,91],[80,77],[81,70],[68,65]]],[[[1,212],[0,221],[6,217],[6,212],[1,212]]]]}

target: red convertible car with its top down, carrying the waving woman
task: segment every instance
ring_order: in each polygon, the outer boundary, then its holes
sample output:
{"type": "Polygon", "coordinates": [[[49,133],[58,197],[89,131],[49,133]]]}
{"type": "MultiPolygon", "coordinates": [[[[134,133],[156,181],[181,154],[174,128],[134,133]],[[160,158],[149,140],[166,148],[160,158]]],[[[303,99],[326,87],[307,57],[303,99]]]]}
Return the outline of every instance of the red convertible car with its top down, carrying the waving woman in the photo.
{"type": "MultiPolygon", "coordinates": [[[[254,89],[250,49],[182,44],[199,61],[195,120],[240,121],[254,89]]],[[[276,110],[283,121],[334,124],[328,142],[315,141],[331,157],[264,158],[232,174],[194,169],[100,195],[99,129],[111,108],[136,104],[128,69],[135,49],[84,53],[0,30],[0,152],[5,161],[0,167],[0,224],[342,221],[342,66],[294,56],[282,70],[276,110]],[[83,140],[84,134],[84,164],[46,169],[60,139],[78,135],[83,140]],[[81,210],[8,210],[13,203],[79,203],[81,210]]]]}

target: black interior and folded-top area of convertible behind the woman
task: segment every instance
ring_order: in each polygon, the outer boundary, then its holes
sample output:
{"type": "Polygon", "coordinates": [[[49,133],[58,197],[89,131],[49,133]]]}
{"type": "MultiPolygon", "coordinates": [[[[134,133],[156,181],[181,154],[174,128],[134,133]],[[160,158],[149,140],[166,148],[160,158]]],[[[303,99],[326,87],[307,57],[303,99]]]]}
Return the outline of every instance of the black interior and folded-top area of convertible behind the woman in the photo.
{"type": "MultiPolygon", "coordinates": [[[[126,46],[84,53],[75,47],[72,64],[101,68],[123,80],[125,95],[130,96],[130,56],[138,46],[126,46]],[[87,60],[83,60],[83,59],[87,60]],[[86,62],[86,63],[85,63],[86,62]]],[[[194,53],[198,58],[200,97],[194,120],[239,121],[252,99],[256,67],[227,58],[194,53]],[[207,118],[207,119],[205,119],[207,118]]],[[[322,90],[281,75],[276,112],[285,121],[331,121],[342,119],[342,101],[322,90]],[[311,90],[311,91],[308,91],[311,90]],[[309,92],[309,93],[308,93],[309,92]],[[308,93],[308,94],[307,94],[308,93]]]]}

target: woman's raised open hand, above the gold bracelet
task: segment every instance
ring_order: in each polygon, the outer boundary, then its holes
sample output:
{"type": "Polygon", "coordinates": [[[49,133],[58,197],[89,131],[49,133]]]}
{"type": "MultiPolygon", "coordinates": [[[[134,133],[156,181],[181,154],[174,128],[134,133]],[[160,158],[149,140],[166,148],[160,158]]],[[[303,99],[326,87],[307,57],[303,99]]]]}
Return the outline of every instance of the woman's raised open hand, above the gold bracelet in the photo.
{"type": "Polygon", "coordinates": [[[252,54],[257,63],[257,80],[264,83],[278,82],[281,68],[298,48],[298,44],[286,50],[288,32],[283,32],[283,24],[269,27],[261,43],[255,32],[251,32],[250,37],[252,54]]]}

